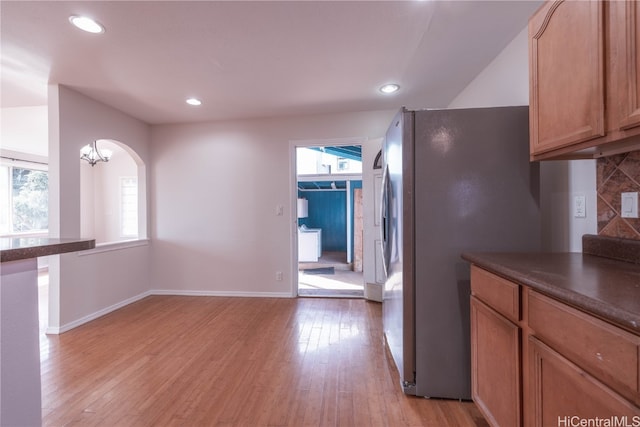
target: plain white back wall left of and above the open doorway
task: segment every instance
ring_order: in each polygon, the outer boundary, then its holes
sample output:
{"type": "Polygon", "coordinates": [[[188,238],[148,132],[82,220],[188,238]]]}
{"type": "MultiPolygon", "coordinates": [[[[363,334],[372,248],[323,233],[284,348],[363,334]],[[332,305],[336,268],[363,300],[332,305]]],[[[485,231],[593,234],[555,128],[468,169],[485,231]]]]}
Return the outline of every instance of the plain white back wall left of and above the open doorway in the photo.
{"type": "Polygon", "coordinates": [[[153,126],[152,289],[293,295],[290,141],[379,138],[394,113],[153,126]]]}

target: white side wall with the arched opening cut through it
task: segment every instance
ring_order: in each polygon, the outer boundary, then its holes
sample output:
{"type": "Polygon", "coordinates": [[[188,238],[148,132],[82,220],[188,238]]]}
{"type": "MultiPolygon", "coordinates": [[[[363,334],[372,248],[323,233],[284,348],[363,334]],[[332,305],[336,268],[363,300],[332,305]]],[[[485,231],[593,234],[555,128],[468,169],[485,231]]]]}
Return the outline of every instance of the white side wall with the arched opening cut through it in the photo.
{"type": "MultiPolygon", "coordinates": [[[[81,236],[80,149],[96,139],[122,141],[148,164],[149,127],[74,90],[49,86],[49,233],[81,236]]],[[[148,184],[148,183],[147,183],[148,184]]],[[[149,246],[52,257],[51,332],[91,320],[149,289],[149,246]]]]}

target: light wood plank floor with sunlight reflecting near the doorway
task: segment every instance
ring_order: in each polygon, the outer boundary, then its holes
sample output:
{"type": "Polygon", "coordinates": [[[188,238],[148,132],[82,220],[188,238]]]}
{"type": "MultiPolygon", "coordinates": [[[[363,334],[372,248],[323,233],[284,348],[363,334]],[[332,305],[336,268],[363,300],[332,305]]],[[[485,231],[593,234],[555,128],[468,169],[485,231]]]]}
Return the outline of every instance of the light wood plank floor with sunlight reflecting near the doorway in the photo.
{"type": "Polygon", "coordinates": [[[48,336],[43,425],[487,425],[402,394],[381,323],[358,299],[148,297],[48,336]]]}

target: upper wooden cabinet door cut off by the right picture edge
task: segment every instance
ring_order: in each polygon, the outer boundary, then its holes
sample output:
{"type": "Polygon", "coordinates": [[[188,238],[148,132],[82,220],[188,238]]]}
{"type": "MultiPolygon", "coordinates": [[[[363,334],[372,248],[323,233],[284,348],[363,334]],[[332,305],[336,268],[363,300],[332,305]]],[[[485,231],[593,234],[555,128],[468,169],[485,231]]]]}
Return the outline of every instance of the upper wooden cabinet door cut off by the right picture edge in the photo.
{"type": "Polygon", "coordinates": [[[611,14],[615,22],[612,31],[616,37],[620,61],[616,72],[614,100],[619,102],[620,129],[640,126],[640,5],[636,1],[612,2],[611,14]]]}

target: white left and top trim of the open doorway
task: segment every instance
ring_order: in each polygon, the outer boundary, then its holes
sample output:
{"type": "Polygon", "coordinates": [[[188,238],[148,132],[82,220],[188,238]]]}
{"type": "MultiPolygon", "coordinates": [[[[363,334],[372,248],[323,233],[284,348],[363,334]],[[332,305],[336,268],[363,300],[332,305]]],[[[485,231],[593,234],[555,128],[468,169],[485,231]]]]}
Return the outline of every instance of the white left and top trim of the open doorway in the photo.
{"type": "MultiPolygon", "coordinates": [[[[289,140],[289,215],[291,218],[291,226],[289,228],[289,248],[291,260],[291,296],[298,296],[298,165],[296,150],[298,147],[339,147],[342,145],[360,145],[362,146],[369,140],[367,137],[348,137],[348,138],[331,138],[331,139],[294,139],[289,140]]],[[[363,162],[364,170],[364,162],[363,162]]],[[[364,187],[364,182],[363,182],[364,187]]],[[[364,281],[363,281],[364,286],[364,281]]]]}

